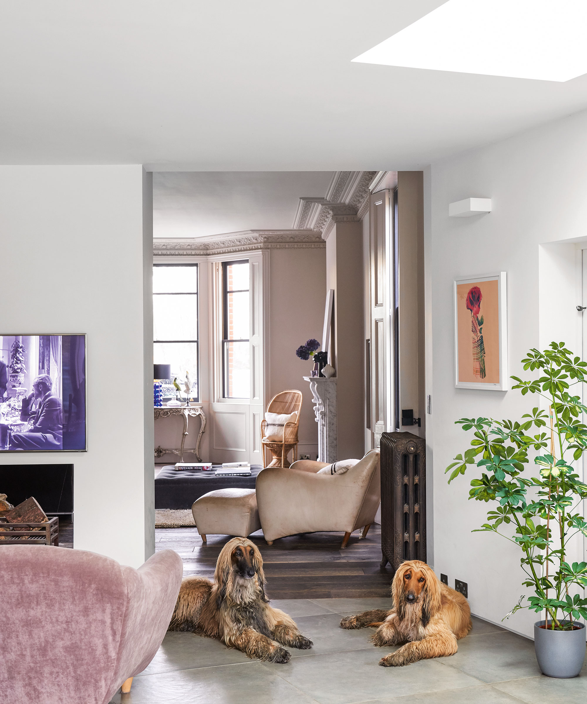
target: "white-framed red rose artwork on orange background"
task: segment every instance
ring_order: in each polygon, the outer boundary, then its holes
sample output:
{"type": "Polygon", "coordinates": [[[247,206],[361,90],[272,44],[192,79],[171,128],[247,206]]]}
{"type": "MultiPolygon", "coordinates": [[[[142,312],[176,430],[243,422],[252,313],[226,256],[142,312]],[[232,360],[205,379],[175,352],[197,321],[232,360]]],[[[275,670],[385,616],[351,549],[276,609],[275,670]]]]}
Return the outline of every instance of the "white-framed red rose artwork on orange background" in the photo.
{"type": "Polygon", "coordinates": [[[455,279],[455,386],[507,391],[505,271],[455,279]]]}

